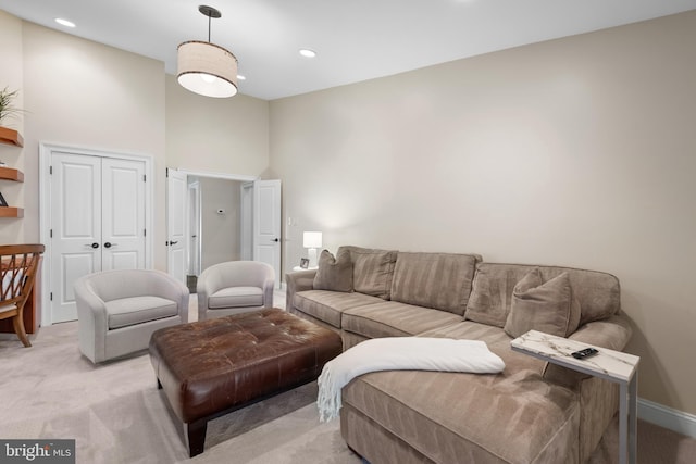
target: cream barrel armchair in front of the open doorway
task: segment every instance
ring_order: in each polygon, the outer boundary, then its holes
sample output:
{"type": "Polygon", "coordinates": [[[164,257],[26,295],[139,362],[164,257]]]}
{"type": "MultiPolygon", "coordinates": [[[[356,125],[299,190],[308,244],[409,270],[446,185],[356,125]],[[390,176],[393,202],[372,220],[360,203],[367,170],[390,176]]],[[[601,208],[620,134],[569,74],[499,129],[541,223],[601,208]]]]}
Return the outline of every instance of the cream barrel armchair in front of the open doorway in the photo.
{"type": "Polygon", "coordinates": [[[258,261],[228,261],[198,277],[198,321],[273,308],[275,273],[258,261]]]}

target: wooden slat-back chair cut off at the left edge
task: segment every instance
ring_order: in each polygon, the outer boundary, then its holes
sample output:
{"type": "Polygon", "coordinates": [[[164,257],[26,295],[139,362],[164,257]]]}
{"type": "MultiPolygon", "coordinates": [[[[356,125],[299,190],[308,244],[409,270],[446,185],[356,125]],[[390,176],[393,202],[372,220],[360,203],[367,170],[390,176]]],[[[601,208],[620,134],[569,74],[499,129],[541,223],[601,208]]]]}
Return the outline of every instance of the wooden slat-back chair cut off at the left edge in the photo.
{"type": "Polygon", "coordinates": [[[0,246],[0,319],[12,317],[12,326],[22,343],[32,343],[24,329],[24,305],[34,287],[42,244],[0,246]]]}

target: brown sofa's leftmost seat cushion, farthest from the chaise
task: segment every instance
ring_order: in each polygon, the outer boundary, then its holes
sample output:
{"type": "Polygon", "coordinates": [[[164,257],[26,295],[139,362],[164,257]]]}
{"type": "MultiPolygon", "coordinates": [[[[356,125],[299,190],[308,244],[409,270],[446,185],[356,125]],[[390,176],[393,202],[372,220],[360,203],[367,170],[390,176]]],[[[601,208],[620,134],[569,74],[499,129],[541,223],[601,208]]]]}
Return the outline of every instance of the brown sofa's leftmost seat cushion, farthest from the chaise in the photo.
{"type": "Polygon", "coordinates": [[[344,311],[384,302],[383,299],[363,293],[345,293],[328,290],[298,291],[293,298],[293,306],[304,314],[340,328],[344,311]]]}

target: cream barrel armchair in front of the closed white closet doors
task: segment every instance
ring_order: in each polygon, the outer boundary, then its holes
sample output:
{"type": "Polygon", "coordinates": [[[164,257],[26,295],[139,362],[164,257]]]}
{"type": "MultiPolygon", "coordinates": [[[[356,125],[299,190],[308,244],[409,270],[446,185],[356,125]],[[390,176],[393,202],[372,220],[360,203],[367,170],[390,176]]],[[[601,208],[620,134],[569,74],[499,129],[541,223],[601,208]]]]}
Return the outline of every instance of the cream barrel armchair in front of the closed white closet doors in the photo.
{"type": "Polygon", "coordinates": [[[104,271],[75,281],[79,350],[92,363],[148,348],[154,330],[188,322],[188,288],[160,271],[104,271]]]}

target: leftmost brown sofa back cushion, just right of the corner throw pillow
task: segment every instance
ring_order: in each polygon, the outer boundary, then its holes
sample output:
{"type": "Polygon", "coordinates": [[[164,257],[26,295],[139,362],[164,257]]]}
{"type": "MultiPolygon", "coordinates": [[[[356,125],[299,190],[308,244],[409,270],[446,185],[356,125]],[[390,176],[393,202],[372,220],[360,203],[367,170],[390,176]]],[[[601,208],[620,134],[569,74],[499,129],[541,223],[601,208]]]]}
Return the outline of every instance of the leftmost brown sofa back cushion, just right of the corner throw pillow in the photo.
{"type": "Polygon", "coordinates": [[[340,255],[344,250],[350,252],[353,290],[388,300],[398,252],[345,246],[338,249],[336,255],[340,255]]]}

